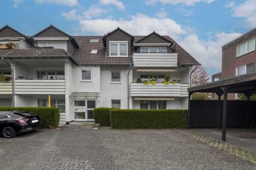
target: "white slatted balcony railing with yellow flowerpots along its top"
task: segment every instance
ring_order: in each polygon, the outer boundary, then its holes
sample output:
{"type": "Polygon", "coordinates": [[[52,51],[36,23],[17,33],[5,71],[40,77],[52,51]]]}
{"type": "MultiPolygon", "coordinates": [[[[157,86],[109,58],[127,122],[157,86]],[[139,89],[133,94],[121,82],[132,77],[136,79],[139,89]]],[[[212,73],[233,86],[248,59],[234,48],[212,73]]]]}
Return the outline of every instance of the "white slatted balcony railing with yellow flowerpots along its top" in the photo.
{"type": "Polygon", "coordinates": [[[188,83],[131,83],[131,97],[188,97],[188,83]]]}

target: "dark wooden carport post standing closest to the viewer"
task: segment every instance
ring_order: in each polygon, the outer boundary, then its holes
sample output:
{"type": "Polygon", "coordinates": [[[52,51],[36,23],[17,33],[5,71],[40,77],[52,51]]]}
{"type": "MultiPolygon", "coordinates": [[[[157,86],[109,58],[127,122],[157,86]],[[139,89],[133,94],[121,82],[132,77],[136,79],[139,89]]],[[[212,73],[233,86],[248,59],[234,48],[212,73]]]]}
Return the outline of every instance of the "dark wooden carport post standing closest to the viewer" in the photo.
{"type": "Polygon", "coordinates": [[[226,130],[227,130],[227,105],[228,105],[228,86],[221,88],[224,93],[223,98],[223,116],[222,116],[222,141],[226,141],[226,130]]]}

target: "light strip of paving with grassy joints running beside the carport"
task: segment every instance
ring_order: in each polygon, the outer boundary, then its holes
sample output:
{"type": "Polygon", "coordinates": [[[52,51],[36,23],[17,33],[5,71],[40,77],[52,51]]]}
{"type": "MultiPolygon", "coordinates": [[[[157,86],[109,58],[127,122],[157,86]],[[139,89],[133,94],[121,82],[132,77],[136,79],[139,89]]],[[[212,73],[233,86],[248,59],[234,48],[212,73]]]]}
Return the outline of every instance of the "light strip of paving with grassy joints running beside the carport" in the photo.
{"type": "Polygon", "coordinates": [[[218,139],[214,139],[212,137],[208,137],[205,135],[201,135],[195,132],[191,132],[190,130],[178,130],[182,134],[189,135],[190,137],[193,137],[199,141],[202,141],[204,143],[207,143],[211,146],[214,146],[218,148],[219,150],[227,151],[227,153],[231,153],[234,155],[237,155],[238,157],[244,158],[246,160],[249,160],[250,162],[253,162],[256,164],[256,153],[252,151],[248,151],[242,148],[239,148],[237,146],[234,146],[232,144],[225,143],[223,141],[220,141],[218,139]]]}

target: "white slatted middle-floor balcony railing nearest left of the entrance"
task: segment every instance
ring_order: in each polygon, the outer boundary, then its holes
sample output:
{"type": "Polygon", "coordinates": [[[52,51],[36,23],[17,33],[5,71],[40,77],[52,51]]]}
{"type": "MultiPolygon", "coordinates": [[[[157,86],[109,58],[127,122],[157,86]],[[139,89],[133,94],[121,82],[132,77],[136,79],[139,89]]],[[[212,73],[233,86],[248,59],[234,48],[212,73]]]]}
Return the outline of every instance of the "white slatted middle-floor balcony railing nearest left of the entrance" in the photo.
{"type": "Polygon", "coordinates": [[[65,95],[65,80],[15,80],[17,95],[65,95]]]}

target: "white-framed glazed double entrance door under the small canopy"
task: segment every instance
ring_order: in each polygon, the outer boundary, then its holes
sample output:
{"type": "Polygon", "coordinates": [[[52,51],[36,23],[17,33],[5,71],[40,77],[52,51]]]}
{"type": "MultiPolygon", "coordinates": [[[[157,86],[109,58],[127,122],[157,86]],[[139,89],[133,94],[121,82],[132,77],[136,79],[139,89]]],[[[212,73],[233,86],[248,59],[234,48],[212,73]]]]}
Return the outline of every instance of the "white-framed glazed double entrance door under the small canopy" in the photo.
{"type": "Polygon", "coordinates": [[[96,100],[74,100],[75,121],[94,121],[93,109],[96,100]]]}

